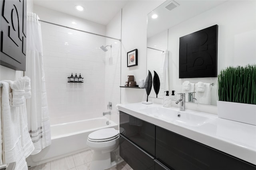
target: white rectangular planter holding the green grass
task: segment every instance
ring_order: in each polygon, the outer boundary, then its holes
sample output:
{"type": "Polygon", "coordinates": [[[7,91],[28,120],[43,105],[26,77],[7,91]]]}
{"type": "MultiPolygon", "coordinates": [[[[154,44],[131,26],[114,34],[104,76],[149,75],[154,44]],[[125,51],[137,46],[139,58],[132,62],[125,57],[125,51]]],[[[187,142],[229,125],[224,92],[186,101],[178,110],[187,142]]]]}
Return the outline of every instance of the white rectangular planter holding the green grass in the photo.
{"type": "Polygon", "coordinates": [[[256,125],[256,105],[217,101],[218,117],[256,125]]]}

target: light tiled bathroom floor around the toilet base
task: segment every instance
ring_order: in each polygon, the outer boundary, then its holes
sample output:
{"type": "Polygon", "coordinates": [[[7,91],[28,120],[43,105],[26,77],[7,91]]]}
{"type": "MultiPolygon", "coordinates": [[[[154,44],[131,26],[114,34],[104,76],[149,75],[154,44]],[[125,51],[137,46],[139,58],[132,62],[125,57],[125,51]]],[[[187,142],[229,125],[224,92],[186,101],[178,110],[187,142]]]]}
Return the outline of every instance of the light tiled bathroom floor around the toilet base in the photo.
{"type": "MultiPolygon", "coordinates": [[[[90,170],[91,161],[92,151],[86,150],[78,154],[31,167],[28,170],[90,170]]],[[[124,161],[107,170],[132,170],[132,168],[124,161]]]]}

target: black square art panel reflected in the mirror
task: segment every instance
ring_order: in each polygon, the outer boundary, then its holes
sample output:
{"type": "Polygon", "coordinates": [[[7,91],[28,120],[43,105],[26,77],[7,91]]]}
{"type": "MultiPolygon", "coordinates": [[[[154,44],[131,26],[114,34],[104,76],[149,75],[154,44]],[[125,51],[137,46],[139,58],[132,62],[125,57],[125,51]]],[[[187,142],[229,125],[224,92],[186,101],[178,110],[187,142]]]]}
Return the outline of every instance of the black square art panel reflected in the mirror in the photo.
{"type": "Polygon", "coordinates": [[[218,25],[180,37],[179,78],[217,77],[218,25]]]}

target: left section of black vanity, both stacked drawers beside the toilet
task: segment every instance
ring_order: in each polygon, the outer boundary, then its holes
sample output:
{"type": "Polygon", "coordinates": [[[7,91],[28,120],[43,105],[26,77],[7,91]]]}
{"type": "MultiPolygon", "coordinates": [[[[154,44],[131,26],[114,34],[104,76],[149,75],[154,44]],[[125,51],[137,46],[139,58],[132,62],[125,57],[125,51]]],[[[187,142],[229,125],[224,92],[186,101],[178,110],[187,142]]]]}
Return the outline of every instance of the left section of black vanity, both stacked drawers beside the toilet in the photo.
{"type": "Polygon", "coordinates": [[[155,160],[155,132],[152,123],[120,111],[120,156],[132,169],[169,170],[155,160]]]}

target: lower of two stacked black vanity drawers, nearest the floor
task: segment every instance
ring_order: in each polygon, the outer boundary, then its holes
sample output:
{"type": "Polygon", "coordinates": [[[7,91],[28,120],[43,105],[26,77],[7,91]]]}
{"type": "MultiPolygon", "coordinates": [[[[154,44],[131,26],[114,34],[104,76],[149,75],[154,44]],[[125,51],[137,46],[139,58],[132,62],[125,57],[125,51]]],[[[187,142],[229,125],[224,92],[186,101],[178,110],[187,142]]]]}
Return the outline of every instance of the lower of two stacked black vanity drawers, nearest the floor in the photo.
{"type": "Polygon", "coordinates": [[[133,170],[154,170],[154,158],[120,135],[120,156],[133,170]]]}

